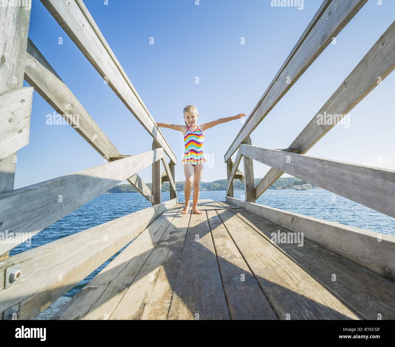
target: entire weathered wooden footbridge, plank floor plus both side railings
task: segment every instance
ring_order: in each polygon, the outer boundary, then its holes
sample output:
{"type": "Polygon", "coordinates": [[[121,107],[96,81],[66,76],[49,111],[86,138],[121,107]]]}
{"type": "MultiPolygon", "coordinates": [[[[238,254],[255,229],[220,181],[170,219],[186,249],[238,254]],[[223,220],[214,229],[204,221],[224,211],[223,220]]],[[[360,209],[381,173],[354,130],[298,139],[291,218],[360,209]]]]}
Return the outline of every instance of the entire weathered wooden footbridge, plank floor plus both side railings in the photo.
{"type": "Polygon", "coordinates": [[[253,146],[252,131],[367,2],[324,0],[224,155],[225,201],[201,200],[203,214],[183,215],[177,158],[83,1],[41,2],[153,141],[121,154],[28,39],[30,9],[0,7],[0,319],[36,317],[125,246],[53,319],[395,319],[395,237],[256,203],[288,173],[395,217],[395,171],[306,155],[393,71],[395,22],[288,148],[253,146]],[[105,164],[13,189],[33,89],[105,164]],[[320,122],[324,113],[331,122],[320,122]],[[271,167],[257,186],[254,160],[271,167]],[[138,175],[149,166],[152,189],[138,175]],[[152,206],[9,256],[124,180],[152,206]]]}

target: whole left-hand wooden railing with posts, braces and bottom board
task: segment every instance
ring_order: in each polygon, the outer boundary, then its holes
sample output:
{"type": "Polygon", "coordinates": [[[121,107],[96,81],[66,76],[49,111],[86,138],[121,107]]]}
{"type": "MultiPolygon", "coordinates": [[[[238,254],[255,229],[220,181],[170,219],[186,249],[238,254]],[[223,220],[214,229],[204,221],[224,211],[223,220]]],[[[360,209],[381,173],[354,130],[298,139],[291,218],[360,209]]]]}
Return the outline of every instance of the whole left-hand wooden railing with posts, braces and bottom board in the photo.
{"type": "Polygon", "coordinates": [[[0,319],[33,318],[177,203],[177,158],[83,2],[41,2],[152,136],[152,150],[121,155],[28,39],[30,9],[0,7],[0,319]],[[31,87],[23,88],[23,78],[31,87]],[[29,142],[33,89],[108,163],[14,190],[16,151],[29,142]],[[78,116],[77,124],[70,114],[78,116]],[[152,191],[137,174],[149,165],[152,191]],[[152,207],[9,257],[9,250],[124,180],[152,207]],[[170,185],[165,203],[163,180],[170,185]]]}

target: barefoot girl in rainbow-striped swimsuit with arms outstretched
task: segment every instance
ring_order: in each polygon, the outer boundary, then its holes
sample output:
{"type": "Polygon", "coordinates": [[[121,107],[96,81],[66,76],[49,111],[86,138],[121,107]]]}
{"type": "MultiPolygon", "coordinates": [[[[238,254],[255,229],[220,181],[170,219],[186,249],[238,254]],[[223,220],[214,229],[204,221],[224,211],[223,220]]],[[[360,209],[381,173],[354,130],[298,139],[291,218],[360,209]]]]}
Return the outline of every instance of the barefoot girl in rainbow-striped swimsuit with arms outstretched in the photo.
{"type": "Polygon", "coordinates": [[[209,123],[203,123],[198,126],[199,114],[198,110],[194,105],[188,105],[184,107],[184,120],[185,125],[175,125],[167,123],[157,123],[159,127],[170,128],[181,131],[184,135],[184,158],[181,160],[181,165],[184,163],[184,174],[185,174],[185,207],[182,210],[182,214],[188,213],[189,199],[191,197],[191,188],[194,187],[192,212],[196,214],[202,214],[203,212],[198,210],[199,200],[199,189],[200,179],[203,174],[203,163],[206,159],[203,158],[203,141],[204,132],[209,128],[221,123],[229,122],[233,119],[239,119],[245,117],[245,113],[240,113],[237,116],[231,116],[226,118],[219,118],[209,123]]]}

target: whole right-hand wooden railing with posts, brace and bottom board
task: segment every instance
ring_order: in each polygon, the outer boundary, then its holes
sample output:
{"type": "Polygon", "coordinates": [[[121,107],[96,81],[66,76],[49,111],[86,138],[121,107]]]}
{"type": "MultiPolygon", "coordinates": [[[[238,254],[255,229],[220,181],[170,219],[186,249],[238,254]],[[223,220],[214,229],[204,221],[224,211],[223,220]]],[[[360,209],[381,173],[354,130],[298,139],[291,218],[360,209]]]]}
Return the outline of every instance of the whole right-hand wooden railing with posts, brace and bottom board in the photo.
{"type": "Polygon", "coordinates": [[[259,148],[252,146],[250,139],[252,131],[365,3],[366,0],[323,2],[224,156],[228,174],[226,201],[242,206],[288,230],[303,232],[308,240],[395,281],[395,238],[255,204],[266,189],[282,174],[288,173],[395,217],[395,171],[304,155],[342,120],[343,115],[348,114],[393,71],[395,22],[288,148],[259,148]],[[331,124],[319,121],[319,117],[325,112],[333,115],[331,124]],[[237,150],[233,163],[231,156],[237,150]],[[234,199],[233,180],[242,158],[245,197],[234,199]],[[256,187],[253,159],[271,167],[256,187]]]}

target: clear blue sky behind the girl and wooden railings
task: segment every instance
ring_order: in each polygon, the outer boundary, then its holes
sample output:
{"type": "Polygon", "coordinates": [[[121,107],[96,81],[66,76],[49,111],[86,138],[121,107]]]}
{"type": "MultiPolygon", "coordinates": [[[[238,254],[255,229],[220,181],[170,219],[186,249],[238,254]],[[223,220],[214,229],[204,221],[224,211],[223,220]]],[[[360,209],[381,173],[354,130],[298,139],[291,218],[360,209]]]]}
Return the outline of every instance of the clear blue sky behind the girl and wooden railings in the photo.
{"type": "MultiPolygon", "coordinates": [[[[198,107],[199,123],[249,115],[321,4],[304,0],[298,10],[271,7],[269,0],[84,2],[154,119],[175,124],[183,124],[188,104],[198,107]]],[[[378,5],[369,0],[336,45],[325,49],[255,129],[252,144],[288,147],[392,23],[394,13],[395,1],[378,5]]],[[[32,4],[29,37],[122,154],[151,149],[150,135],[38,0],[32,4]]],[[[352,110],[350,128],[335,126],[308,155],[395,169],[394,91],[392,73],[352,110]]],[[[103,163],[73,128],[46,124],[53,111],[35,92],[30,143],[18,151],[15,188],[103,163]]],[[[205,167],[203,181],[226,178],[223,156],[241,126],[236,120],[206,131],[204,151],[214,165],[205,167]]],[[[182,134],[162,132],[177,156],[176,180],[184,180],[182,134]]],[[[254,161],[255,177],[268,169],[254,161]]],[[[150,167],[139,174],[151,182],[150,167]]]]}

